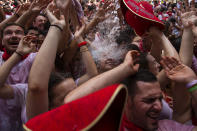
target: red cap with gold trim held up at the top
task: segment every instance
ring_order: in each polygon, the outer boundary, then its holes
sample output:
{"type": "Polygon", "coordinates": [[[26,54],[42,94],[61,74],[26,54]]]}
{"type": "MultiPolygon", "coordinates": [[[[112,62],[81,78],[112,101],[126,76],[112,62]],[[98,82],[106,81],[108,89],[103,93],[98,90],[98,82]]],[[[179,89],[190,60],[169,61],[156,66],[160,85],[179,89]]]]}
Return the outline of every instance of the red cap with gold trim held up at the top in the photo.
{"type": "Polygon", "coordinates": [[[126,22],[139,36],[142,36],[151,26],[157,26],[161,30],[165,28],[163,22],[152,13],[151,5],[146,2],[122,0],[121,7],[126,22]]]}

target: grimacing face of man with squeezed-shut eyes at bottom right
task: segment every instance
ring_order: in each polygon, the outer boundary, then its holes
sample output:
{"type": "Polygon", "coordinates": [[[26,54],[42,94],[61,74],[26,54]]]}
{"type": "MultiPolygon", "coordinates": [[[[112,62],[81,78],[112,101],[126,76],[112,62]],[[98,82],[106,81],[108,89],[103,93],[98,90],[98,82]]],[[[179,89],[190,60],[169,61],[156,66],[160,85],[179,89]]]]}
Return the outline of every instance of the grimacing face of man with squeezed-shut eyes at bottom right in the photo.
{"type": "Polygon", "coordinates": [[[153,131],[158,128],[162,109],[162,92],[158,82],[137,82],[138,91],[131,104],[130,120],[139,127],[153,131]]]}

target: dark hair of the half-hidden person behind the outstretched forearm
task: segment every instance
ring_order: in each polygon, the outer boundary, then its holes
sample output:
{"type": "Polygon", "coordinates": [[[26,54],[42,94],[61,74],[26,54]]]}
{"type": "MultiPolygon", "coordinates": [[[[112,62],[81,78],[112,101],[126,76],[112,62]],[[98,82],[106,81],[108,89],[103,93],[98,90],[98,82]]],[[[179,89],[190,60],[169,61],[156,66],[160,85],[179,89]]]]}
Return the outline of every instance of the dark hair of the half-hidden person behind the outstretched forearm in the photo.
{"type": "Polygon", "coordinates": [[[48,82],[48,97],[49,97],[49,103],[53,99],[53,89],[55,86],[60,84],[62,81],[64,81],[66,78],[71,78],[71,73],[58,73],[58,72],[52,72],[49,77],[48,82]]]}

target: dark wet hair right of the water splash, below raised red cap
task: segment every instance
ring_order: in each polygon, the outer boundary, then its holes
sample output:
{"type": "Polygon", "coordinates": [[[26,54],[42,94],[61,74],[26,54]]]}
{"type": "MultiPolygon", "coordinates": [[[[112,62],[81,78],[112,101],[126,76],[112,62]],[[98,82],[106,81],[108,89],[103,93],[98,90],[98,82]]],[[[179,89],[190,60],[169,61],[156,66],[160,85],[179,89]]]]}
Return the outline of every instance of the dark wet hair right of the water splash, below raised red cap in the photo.
{"type": "Polygon", "coordinates": [[[130,26],[126,26],[126,28],[122,31],[120,31],[120,34],[118,36],[116,36],[116,43],[118,43],[119,45],[122,44],[123,42],[125,44],[130,44],[134,37],[135,37],[135,33],[134,30],[130,27],[130,26]]]}

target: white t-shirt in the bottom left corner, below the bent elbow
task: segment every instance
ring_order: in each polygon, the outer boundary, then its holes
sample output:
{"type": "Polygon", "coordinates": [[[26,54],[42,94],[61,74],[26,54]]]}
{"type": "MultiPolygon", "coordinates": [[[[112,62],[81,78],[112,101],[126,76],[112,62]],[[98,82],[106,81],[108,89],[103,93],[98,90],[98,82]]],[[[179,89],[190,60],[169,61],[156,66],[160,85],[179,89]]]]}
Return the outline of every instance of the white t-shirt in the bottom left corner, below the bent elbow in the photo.
{"type": "Polygon", "coordinates": [[[22,131],[27,122],[27,84],[10,85],[14,90],[13,99],[0,99],[0,131],[22,131]]]}

